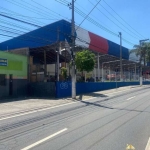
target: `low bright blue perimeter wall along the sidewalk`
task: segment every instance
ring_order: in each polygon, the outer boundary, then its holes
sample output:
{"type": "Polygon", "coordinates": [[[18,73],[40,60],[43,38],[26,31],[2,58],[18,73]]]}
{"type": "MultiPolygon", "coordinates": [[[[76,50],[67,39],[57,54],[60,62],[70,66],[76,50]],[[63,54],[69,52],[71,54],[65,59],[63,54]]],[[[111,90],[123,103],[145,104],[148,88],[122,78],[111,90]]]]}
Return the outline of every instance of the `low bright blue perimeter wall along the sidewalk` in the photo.
{"type": "MultiPolygon", "coordinates": [[[[150,82],[143,82],[144,85],[150,84],[150,82]]],[[[123,86],[139,85],[139,82],[88,82],[88,83],[76,83],[76,93],[84,94],[102,90],[113,89],[123,86]]],[[[56,97],[64,98],[71,96],[71,82],[57,82],[56,83],[56,97]]]]}

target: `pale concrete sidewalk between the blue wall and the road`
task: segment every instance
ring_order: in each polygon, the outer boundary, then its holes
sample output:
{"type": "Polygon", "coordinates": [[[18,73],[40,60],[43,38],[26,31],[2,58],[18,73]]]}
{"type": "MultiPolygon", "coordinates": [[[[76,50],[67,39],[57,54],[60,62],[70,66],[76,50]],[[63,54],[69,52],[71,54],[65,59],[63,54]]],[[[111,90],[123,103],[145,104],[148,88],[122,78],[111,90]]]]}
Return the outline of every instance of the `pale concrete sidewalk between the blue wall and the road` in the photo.
{"type": "MultiPolygon", "coordinates": [[[[106,97],[110,93],[117,93],[130,90],[131,88],[140,88],[139,86],[128,86],[128,87],[120,87],[117,89],[93,92],[83,95],[78,95],[77,100],[86,100],[92,99],[95,97],[106,97]]],[[[33,110],[39,110],[43,108],[50,108],[58,105],[63,105],[67,103],[71,103],[73,100],[71,98],[65,99],[25,99],[20,101],[11,101],[11,102],[3,102],[0,103],[0,117],[9,116],[13,114],[29,112],[33,110]]]]}

